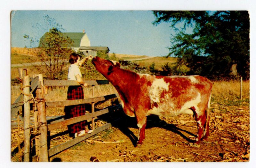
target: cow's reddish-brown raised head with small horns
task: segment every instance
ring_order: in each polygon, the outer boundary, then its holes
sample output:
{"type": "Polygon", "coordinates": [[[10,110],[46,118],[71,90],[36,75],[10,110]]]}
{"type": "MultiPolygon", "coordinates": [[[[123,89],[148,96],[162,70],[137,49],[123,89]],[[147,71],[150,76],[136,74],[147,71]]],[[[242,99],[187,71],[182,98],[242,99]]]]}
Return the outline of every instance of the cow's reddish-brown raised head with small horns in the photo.
{"type": "Polygon", "coordinates": [[[120,68],[120,63],[113,60],[105,60],[100,57],[94,57],[92,59],[92,64],[95,68],[103,75],[110,75],[116,68],[120,68]]]}

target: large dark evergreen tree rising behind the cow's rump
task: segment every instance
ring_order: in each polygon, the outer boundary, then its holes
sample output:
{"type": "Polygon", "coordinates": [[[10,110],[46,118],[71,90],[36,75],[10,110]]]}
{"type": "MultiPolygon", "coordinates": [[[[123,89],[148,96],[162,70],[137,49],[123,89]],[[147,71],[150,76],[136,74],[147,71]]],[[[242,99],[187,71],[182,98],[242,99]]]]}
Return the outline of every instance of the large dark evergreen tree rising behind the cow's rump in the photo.
{"type": "Polygon", "coordinates": [[[190,68],[189,74],[230,77],[231,68],[235,66],[239,76],[249,78],[248,11],[153,13],[156,17],[154,25],[167,22],[175,30],[167,57],[178,57],[179,65],[190,68]]]}

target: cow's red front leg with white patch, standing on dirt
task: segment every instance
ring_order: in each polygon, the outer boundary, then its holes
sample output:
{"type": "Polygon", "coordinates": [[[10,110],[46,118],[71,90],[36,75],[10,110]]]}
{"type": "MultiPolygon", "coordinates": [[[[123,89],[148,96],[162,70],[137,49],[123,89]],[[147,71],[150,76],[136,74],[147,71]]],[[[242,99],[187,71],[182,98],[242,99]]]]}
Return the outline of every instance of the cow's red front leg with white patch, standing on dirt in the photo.
{"type": "Polygon", "coordinates": [[[147,124],[147,117],[146,116],[137,116],[137,125],[139,127],[139,137],[136,147],[142,144],[142,141],[145,139],[145,128],[147,124]]]}

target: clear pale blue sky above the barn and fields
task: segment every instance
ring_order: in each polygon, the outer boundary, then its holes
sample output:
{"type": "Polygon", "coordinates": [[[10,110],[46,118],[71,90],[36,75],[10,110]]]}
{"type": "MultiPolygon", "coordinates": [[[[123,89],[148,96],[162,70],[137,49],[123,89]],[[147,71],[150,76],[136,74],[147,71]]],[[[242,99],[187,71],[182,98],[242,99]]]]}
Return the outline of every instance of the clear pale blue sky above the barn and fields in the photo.
{"type": "Polygon", "coordinates": [[[111,53],[148,56],[169,53],[172,28],[167,23],[154,26],[152,11],[12,11],[12,47],[29,46],[24,34],[41,37],[45,32],[33,26],[43,24],[45,15],[56,19],[65,29],[63,32],[85,29],[91,46],[107,46],[111,53]]]}

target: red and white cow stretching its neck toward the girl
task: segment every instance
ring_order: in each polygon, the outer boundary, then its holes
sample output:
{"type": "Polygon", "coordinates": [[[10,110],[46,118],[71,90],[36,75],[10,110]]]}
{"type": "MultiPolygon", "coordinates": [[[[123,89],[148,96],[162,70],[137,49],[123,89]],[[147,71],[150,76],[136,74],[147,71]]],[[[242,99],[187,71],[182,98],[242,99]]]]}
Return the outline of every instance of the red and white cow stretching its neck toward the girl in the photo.
{"type": "Polygon", "coordinates": [[[95,68],[116,88],[121,104],[139,127],[137,146],[145,139],[147,117],[194,114],[198,144],[209,135],[209,112],[212,82],[201,76],[153,76],[121,69],[119,62],[94,57],[95,68]]]}

